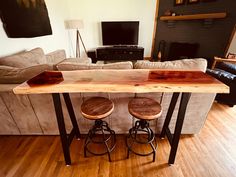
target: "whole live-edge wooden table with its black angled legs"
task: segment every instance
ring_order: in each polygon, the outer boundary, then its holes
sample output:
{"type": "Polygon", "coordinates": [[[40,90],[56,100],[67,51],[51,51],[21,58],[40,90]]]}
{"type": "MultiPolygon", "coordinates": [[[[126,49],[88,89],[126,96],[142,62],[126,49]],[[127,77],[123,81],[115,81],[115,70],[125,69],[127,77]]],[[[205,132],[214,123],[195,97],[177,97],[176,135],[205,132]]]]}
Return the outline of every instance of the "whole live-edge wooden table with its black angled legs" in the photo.
{"type": "Polygon", "coordinates": [[[52,94],[66,165],[71,164],[70,144],[74,136],[77,138],[80,137],[80,131],[69,93],[173,92],[160,137],[164,138],[165,135],[167,136],[171,146],[168,163],[174,164],[185,112],[191,93],[228,93],[229,88],[215,78],[199,71],[133,69],[62,72],[45,71],[17,86],[13,91],[15,94],[52,94]],[[69,135],[67,135],[65,129],[60,93],[63,94],[73,125],[69,135]],[[179,95],[181,95],[181,100],[177,121],[174,134],[171,134],[169,123],[179,95]]]}

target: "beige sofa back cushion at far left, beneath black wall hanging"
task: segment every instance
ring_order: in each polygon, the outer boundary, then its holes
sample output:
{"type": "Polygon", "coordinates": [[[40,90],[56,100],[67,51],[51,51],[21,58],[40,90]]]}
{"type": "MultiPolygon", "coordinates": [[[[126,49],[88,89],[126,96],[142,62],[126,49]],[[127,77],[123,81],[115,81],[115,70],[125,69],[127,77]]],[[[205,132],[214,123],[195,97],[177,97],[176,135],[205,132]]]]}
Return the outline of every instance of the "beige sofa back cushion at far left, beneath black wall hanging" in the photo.
{"type": "Polygon", "coordinates": [[[46,56],[41,48],[35,48],[30,51],[21,52],[0,58],[0,65],[25,68],[38,64],[46,64],[46,56]]]}

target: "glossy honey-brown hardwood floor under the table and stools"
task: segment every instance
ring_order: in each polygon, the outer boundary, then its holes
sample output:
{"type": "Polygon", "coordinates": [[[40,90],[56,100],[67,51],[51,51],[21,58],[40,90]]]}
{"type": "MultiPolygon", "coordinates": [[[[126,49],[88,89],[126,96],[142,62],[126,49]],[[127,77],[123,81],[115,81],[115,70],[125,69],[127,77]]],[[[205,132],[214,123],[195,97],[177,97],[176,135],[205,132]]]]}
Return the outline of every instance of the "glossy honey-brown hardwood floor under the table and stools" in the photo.
{"type": "Polygon", "coordinates": [[[73,164],[65,166],[58,136],[0,136],[0,177],[233,177],[236,176],[236,106],[215,103],[200,134],[182,136],[175,165],[167,164],[169,144],[158,139],[157,159],[126,157],[124,136],[107,155],[83,157],[83,140],[71,146],[73,164]]]}

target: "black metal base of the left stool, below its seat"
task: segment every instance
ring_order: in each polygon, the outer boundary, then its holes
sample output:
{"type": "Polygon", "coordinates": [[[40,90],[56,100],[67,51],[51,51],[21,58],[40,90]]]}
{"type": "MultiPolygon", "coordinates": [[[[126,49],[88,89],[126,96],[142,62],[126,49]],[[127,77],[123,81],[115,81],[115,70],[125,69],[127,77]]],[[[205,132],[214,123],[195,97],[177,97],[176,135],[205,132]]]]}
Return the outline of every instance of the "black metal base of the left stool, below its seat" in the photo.
{"type": "Polygon", "coordinates": [[[86,157],[86,152],[89,152],[93,155],[104,155],[108,154],[109,161],[111,162],[111,155],[110,153],[113,151],[116,145],[116,135],[115,131],[111,130],[108,127],[107,122],[102,120],[96,120],[95,125],[89,130],[88,135],[85,139],[85,145],[84,145],[84,156],[86,157]],[[98,132],[100,132],[102,136],[102,140],[96,140],[96,135],[99,135],[98,132]],[[108,134],[106,134],[106,132],[108,134]],[[110,144],[109,144],[110,142],[110,144]],[[103,153],[95,153],[91,151],[88,148],[89,144],[104,144],[106,146],[106,151],[103,153]]]}

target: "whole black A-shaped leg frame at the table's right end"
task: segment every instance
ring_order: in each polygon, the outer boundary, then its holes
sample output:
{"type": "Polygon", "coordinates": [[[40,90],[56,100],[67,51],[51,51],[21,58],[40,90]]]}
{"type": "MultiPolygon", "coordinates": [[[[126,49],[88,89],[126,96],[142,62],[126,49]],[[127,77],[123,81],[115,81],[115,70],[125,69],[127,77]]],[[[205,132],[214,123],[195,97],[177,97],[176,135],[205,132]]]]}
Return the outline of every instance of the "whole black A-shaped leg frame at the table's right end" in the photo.
{"type": "Polygon", "coordinates": [[[174,134],[172,135],[169,129],[169,123],[170,123],[174,108],[176,106],[179,93],[173,94],[171,103],[167,112],[167,116],[166,116],[162,131],[161,131],[160,137],[164,138],[164,136],[167,135],[167,138],[171,145],[169,161],[168,161],[169,164],[174,164],[175,162],[175,156],[176,156],[176,152],[179,145],[179,138],[182,131],[183,122],[185,118],[185,112],[186,112],[186,108],[187,108],[190,96],[191,96],[191,93],[182,93],[179,110],[178,110],[178,116],[177,116],[177,120],[175,124],[175,130],[174,130],[174,134]]]}

